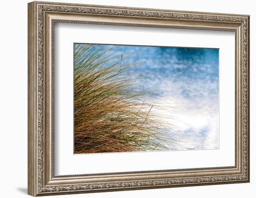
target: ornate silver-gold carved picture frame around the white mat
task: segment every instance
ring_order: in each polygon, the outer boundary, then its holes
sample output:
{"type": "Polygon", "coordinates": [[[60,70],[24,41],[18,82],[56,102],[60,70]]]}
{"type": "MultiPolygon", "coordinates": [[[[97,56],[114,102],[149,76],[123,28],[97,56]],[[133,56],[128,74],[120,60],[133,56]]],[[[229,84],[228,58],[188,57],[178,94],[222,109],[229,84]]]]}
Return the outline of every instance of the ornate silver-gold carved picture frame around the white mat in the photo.
{"type": "Polygon", "coordinates": [[[249,16],[52,2],[28,4],[28,194],[249,182],[249,16]],[[235,166],[54,176],[54,22],[236,32],[235,166]]]}

